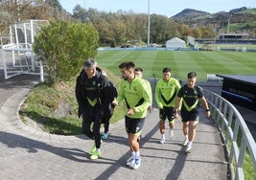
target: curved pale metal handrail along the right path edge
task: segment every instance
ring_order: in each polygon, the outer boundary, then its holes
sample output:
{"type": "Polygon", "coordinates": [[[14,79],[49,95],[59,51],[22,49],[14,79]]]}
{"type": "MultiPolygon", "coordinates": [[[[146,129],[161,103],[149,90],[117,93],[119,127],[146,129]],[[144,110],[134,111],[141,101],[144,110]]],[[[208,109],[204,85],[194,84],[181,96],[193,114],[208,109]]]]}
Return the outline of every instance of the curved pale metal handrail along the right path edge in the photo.
{"type": "Polygon", "coordinates": [[[229,163],[233,168],[232,179],[244,179],[243,165],[246,153],[251,158],[255,173],[256,144],[247,125],[244,123],[244,118],[234,105],[218,94],[206,89],[204,89],[204,93],[210,105],[212,116],[221,132],[223,143],[228,153],[229,163]],[[241,139],[240,132],[242,133],[241,139]]]}

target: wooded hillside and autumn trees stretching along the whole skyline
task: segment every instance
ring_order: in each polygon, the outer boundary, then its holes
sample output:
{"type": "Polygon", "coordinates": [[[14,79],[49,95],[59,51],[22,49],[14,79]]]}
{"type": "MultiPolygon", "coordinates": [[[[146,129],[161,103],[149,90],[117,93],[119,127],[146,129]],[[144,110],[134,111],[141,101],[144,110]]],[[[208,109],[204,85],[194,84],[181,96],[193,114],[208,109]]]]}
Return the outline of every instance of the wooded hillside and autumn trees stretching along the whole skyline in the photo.
{"type": "MultiPolygon", "coordinates": [[[[98,11],[76,6],[70,14],[63,10],[58,0],[0,1],[0,35],[9,34],[9,25],[27,19],[80,21],[92,23],[100,34],[101,46],[144,46],[148,39],[148,15],[133,11],[98,11]]],[[[214,38],[226,33],[230,22],[233,33],[247,33],[253,37],[256,31],[256,9],[239,8],[214,14],[186,9],[168,18],[151,14],[151,43],[159,45],[179,37],[214,38]]]]}

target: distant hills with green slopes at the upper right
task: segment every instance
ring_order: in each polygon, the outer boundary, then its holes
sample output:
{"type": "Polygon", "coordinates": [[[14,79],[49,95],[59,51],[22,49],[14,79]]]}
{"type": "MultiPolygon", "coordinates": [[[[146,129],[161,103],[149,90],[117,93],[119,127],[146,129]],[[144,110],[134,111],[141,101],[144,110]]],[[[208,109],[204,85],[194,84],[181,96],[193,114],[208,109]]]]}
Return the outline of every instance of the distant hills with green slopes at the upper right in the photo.
{"type": "Polygon", "coordinates": [[[216,13],[185,9],[175,14],[172,18],[175,19],[175,22],[183,23],[190,27],[214,27],[217,32],[225,32],[228,20],[230,32],[253,34],[256,31],[256,8],[248,9],[242,7],[216,13]],[[244,24],[247,25],[243,26],[244,24]]]}

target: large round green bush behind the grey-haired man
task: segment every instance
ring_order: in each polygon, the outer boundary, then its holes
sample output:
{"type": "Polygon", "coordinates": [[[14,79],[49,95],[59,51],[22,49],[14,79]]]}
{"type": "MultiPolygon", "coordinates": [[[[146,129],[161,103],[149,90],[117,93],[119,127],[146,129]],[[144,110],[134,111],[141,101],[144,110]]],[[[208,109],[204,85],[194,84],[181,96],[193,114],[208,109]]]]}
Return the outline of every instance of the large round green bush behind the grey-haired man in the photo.
{"type": "Polygon", "coordinates": [[[46,62],[51,84],[77,76],[83,60],[95,57],[98,46],[99,34],[90,24],[54,21],[35,36],[33,50],[46,62]]]}

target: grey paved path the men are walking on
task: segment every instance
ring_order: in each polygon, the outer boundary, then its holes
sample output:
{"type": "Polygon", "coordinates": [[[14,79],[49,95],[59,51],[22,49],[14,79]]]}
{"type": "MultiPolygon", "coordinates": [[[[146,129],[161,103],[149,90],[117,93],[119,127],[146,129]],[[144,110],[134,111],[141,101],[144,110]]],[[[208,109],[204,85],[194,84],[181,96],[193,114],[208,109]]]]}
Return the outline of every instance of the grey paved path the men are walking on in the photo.
{"type": "Polygon", "coordinates": [[[158,143],[158,110],[153,109],[143,128],[142,165],[134,170],[126,166],[130,153],[124,121],[110,124],[109,139],[97,161],[89,159],[93,142],[83,135],[51,135],[23,124],[18,107],[33,87],[31,81],[23,75],[0,80],[1,179],[229,179],[220,134],[203,112],[192,152],[187,154],[181,146],[180,121],[175,124],[175,138],[158,143]]]}

